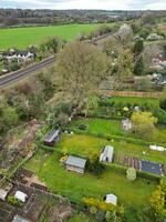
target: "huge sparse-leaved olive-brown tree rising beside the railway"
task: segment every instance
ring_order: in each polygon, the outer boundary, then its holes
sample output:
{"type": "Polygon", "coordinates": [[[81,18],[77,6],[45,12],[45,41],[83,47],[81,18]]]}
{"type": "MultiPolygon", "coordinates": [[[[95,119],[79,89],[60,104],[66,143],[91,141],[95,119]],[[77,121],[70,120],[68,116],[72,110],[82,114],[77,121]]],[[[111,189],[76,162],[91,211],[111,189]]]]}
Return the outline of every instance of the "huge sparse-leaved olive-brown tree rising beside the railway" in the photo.
{"type": "Polygon", "coordinates": [[[98,83],[106,75],[106,56],[94,46],[74,42],[64,47],[58,58],[59,90],[82,107],[84,100],[94,94],[98,83]]]}

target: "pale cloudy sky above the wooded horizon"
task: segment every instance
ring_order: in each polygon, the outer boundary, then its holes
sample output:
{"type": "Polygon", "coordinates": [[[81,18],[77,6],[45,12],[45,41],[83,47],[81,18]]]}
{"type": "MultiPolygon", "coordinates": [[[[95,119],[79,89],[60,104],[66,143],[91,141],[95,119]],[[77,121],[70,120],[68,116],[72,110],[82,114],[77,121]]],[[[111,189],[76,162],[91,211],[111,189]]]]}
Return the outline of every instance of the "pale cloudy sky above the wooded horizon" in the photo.
{"type": "Polygon", "coordinates": [[[166,10],[166,0],[0,0],[0,8],[166,10]]]}

